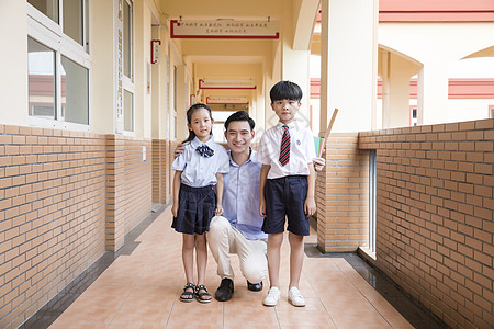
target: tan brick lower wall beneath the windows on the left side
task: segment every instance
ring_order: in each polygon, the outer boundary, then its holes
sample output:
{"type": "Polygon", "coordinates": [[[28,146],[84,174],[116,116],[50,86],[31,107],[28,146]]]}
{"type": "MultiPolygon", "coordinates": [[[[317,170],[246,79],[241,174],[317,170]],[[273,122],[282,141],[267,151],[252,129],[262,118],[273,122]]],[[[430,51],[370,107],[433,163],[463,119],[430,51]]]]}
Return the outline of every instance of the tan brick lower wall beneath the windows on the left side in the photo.
{"type": "Polygon", "coordinates": [[[149,140],[0,125],[0,328],[15,328],[150,212],[149,140]]]}

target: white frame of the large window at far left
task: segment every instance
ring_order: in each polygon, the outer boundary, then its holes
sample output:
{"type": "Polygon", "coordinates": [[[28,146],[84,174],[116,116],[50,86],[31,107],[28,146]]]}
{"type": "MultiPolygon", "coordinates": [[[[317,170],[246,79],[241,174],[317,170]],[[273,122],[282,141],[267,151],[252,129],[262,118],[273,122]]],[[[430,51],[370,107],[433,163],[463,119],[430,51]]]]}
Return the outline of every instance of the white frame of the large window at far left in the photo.
{"type": "MultiPolygon", "coordinates": [[[[70,129],[79,132],[89,132],[91,129],[91,55],[89,53],[89,2],[82,1],[82,45],[72,39],[70,36],[63,33],[63,23],[58,24],[50,18],[38,11],[31,3],[26,2],[27,12],[27,38],[32,38],[40,44],[45,45],[55,52],[55,117],[45,118],[29,114],[29,124],[32,126],[49,127],[57,129],[70,129]],[[85,25],[86,24],[86,25],[85,25]],[[67,57],[75,64],[80,65],[88,71],[88,124],[79,124],[66,122],[61,107],[61,56],[67,57]]],[[[59,0],[58,3],[58,20],[64,22],[64,1],[59,0]]],[[[29,76],[29,72],[27,72],[29,76]]],[[[27,89],[27,99],[30,98],[30,91],[27,89]]]]}

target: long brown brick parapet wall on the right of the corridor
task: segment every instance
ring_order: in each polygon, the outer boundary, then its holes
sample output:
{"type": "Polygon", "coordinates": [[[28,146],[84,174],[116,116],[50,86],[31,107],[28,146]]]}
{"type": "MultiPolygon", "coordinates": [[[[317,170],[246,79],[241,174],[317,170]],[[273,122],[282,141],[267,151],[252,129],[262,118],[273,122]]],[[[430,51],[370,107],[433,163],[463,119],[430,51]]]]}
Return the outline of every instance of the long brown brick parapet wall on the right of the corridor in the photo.
{"type": "Polygon", "coordinates": [[[492,328],[494,121],[359,134],[377,150],[375,265],[452,328],[492,328]]]}

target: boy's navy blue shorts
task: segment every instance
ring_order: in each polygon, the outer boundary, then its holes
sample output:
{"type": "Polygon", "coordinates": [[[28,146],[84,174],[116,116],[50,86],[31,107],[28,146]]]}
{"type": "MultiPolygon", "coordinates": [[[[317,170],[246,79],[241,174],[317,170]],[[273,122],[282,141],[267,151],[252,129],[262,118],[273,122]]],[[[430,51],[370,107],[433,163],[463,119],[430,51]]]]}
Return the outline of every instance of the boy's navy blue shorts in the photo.
{"type": "Polygon", "coordinates": [[[287,230],[296,236],[310,235],[308,217],[304,213],[307,197],[307,177],[287,175],[266,181],[266,214],[262,230],[267,234],[284,231],[284,218],[288,218],[287,230]]]}

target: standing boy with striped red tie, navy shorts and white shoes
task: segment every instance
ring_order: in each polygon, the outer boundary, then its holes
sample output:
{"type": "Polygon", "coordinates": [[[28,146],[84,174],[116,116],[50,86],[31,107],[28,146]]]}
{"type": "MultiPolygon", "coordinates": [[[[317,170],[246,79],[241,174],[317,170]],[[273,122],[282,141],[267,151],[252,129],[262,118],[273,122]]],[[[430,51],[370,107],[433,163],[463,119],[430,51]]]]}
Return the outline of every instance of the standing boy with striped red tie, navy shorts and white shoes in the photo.
{"type": "Polygon", "coordinates": [[[290,81],[280,81],[270,91],[271,107],[280,122],[266,131],[259,143],[257,160],[260,173],[259,214],[265,218],[262,230],[268,234],[268,271],[270,290],[263,300],[276,306],[280,299],[280,247],[284,218],[288,218],[290,242],[289,302],[305,306],[299,290],[304,257],[304,236],[310,234],[308,216],[314,215],[314,141],[311,131],[294,122],[301,106],[302,90],[290,81]]]}

